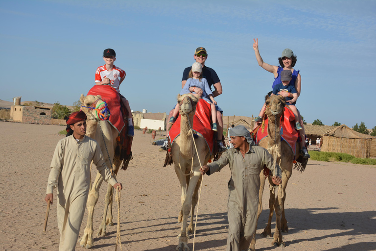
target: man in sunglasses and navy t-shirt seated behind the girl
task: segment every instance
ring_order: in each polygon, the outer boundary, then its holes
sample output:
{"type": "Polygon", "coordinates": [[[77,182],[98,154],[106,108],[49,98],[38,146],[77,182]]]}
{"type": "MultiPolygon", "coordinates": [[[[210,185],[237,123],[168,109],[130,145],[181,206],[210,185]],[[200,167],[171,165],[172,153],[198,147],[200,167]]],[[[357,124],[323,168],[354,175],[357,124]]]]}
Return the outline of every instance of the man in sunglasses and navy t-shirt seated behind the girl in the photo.
{"type": "MultiPolygon", "coordinates": [[[[222,84],[219,80],[217,73],[213,69],[211,69],[211,68],[209,68],[205,65],[205,62],[208,59],[208,53],[206,52],[206,49],[203,48],[203,47],[198,47],[194,51],[193,58],[197,63],[202,64],[202,77],[206,78],[206,80],[208,81],[209,87],[210,88],[211,88],[211,86],[214,87],[215,90],[212,91],[213,97],[215,98],[218,95],[221,95],[222,94],[222,84]]],[[[186,82],[189,78],[189,71],[191,70],[191,68],[192,67],[189,66],[186,69],[184,69],[183,77],[182,77],[182,88],[186,85],[186,82]]],[[[202,95],[202,92],[203,91],[201,90],[201,88],[196,89],[196,93],[198,95],[202,95]]],[[[171,116],[173,115],[173,111],[174,111],[174,109],[172,109],[168,114],[168,118],[167,118],[168,122],[170,121],[171,116]]],[[[227,150],[226,147],[223,146],[223,143],[222,143],[222,132],[223,132],[222,112],[223,111],[218,107],[218,110],[217,110],[217,130],[218,130],[217,145],[218,145],[218,150],[220,152],[227,150]]],[[[169,126],[167,126],[167,128],[166,128],[166,140],[164,142],[164,145],[159,149],[159,151],[167,151],[167,148],[168,148],[168,145],[167,145],[168,129],[169,129],[168,127],[169,126]]]]}

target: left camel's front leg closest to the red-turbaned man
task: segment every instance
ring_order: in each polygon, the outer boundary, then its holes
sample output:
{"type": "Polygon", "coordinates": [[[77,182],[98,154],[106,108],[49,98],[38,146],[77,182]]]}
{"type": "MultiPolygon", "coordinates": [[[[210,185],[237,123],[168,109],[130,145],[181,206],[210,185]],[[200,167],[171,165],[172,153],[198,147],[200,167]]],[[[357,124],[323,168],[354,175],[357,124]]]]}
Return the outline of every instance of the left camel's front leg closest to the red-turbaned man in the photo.
{"type": "Polygon", "coordinates": [[[88,196],[88,202],[87,202],[87,208],[88,208],[88,222],[86,224],[84,234],[82,235],[80,246],[86,249],[90,249],[93,247],[94,239],[93,239],[93,215],[94,215],[94,206],[96,202],[98,201],[99,197],[99,188],[102,184],[103,177],[97,173],[93,188],[89,192],[88,196]]]}

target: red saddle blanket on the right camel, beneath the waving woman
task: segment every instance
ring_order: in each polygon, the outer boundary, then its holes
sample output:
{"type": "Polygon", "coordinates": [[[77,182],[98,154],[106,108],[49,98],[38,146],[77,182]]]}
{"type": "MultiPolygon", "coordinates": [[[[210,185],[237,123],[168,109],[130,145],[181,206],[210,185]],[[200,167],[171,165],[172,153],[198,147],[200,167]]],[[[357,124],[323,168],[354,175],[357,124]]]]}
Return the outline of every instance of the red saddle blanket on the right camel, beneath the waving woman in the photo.
{"type": "MultiPolygon", "coordinates": [[[[294,113],[287,108],[287,106],[284,107],[284,119],[282,122],[281,117],[281,140],[284,140],[288,143],[288,145],[291,147],[292,152],[295,155],[296,150],[296,141],[299,138],[299,133],[295,130],[295,115],[294,113]]],[[[256,144],[258,144],[263,138],[268,136],[268,118],[265,119],[265,126],[264,129],[260,127],[256,133],[256,144]]]]}

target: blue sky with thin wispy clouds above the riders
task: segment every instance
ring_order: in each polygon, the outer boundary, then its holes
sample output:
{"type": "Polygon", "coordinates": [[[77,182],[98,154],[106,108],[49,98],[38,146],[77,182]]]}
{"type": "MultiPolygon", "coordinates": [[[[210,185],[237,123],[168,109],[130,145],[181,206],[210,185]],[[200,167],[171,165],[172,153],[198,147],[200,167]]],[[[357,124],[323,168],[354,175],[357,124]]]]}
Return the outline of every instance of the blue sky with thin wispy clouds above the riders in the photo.
{"type": "Polygon", "coordinates": [[[374,0],[13,0],[0,2],[0,99],[72,105],[94,85],[102,53],[116,50],[134,111],[169,112],[197,47],[219,76],[224,116],[257,116],[282,50],[297,56],[297,108],[319,119],[376,126],[374,0]]]}

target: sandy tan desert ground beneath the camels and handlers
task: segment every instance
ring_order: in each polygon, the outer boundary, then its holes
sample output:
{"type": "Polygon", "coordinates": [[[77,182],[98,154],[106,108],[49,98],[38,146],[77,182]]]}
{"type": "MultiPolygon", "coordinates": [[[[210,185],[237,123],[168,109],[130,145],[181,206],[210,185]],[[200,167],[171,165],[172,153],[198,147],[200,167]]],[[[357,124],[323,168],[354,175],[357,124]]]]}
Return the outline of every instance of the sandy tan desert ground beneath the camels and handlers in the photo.
{"type": "MultiPolygon", "coordinates": [[[[44,201],[49,164],[64,126],[0,122],[0,250],[55,251],[59,245],[56,203],[43,233],[44,201]]],[[[163,135],[157,135],[157,139],[163,135]]],[[[133,160],[119,171],[121,241],[128,251],[174,251],[180,224],[180,185],[172,166],[163,167],[165,152],[153,146],[151,135],[136,131],[133,160]]],[[[92,171],[94,177],[95,171],[92,171]]],[[[228,168],[204,176],[195,250],[224,251],[227,239],[228,168]]],[[[376,168],[339,162],[309,161],[305,172],[293,172],[286,190],[289,232],[286,247],[274,248],[261,238],[266,226],[269,190],[258,222],[258,251],[371,251],[376,250],[376,168]]],[[[55,190],[56,191],[56,190],[55,190]]],[[[105,187],[94,211],[94,233],[103,213],[105,187]]],[[[56,192],[55,192],[56,198],[56,192]]],[[[54,201],[56,202],[56,200],[54,201]]],[[[115,221],[117,207],[114,207],[115,221]]],[[[80,236],[86,226],[86,216],[80,236]]],[[[272,227],[275,225],[273,224],[272,227]]],[[[115,250],[117,226],[94,238],[92,250],[115,250]]],[[[192,250],[193,235],[188,240],[192,250]]],[[[77,243],[77,251],[84,251],[77,243]]]]}

